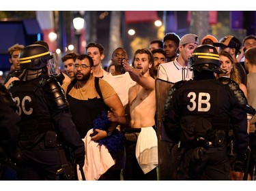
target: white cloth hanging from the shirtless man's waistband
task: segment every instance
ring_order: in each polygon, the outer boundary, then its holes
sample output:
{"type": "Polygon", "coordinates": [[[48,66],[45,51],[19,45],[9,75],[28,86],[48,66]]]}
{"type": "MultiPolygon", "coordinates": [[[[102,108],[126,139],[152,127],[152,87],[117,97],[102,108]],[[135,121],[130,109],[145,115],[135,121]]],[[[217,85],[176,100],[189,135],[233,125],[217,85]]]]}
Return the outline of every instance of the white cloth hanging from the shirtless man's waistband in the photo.
{"type": "Polygon", "coordinates": [[[158,139],[152,126],[141,128],[135,153],[144,174],[158,166],[158,139]]]}

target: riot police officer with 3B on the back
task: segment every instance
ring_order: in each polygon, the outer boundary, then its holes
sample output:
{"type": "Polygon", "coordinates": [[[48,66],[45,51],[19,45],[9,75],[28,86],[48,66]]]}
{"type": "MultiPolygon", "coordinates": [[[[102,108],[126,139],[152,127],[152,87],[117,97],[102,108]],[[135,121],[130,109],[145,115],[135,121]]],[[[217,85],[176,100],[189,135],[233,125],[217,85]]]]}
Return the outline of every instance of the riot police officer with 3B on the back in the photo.
{"type": "Polygon", "coordinates": [[[216,79],[221,69],[214,46],[198,46],[190,58],[194,78],[171,88],[165,105],[165,131],[177,147],[177,179],[230,179],[227,135],[235,134],[235,171],[244,171],[248,133],[247,105],[238,84],[216,79]]]}

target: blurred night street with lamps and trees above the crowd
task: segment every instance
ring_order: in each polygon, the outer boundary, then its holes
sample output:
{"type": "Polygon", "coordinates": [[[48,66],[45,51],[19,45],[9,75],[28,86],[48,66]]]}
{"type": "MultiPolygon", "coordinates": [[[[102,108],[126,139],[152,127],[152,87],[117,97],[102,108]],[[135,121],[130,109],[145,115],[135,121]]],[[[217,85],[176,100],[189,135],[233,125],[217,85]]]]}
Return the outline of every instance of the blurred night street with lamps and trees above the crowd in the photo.
{"type": "Polygon", "coordinates": [[[90,42],[102,44],[109,65],[115,48],[122,46],[130,61],[135,50],[148,48],[150,41],[166,33],[180,37],[195,33],[201,40],[214,35],[220,40],[234,35],[240,41],[255,35],[254,11],[3,11],[0,12],[0,76],[10,70],[8,48],[44,40],[61,57],[68,52],[85,53],[90,42]]]}

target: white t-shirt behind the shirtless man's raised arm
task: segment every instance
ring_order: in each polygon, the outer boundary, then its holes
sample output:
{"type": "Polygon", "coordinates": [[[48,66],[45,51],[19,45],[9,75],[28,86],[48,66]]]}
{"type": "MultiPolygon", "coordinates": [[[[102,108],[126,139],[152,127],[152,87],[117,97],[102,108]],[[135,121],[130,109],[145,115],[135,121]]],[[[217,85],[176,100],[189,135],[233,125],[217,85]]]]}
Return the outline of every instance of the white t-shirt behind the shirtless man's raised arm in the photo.
{"type": "Polygon", "coordinates": [[[107,75],[104,75],[102,79],[109,82],[109,84],[114,88],[125,107],[128,104],[129,88],[136,84],[136,82],[130,77],[129,73],[126,72],[120,75],[112,75],[112,73],[108,73],[107,75]]]}

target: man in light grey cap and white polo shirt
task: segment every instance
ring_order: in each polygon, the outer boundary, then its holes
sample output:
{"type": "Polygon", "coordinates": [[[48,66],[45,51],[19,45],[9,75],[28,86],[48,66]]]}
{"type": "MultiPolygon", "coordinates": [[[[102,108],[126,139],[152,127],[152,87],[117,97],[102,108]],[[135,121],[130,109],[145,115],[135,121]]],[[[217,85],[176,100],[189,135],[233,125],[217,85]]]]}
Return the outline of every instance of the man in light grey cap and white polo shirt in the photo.
{"type": "Polygon", "coordinates": [[[186,34],[180,39],[180,54],[169,63],[160,64],[158,78],[168,82],[193,79],[193,71],[190,71],[188,59],[199,45],[199,38],[195,34],[186,34]]]}

